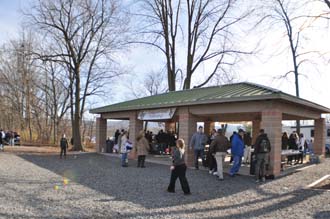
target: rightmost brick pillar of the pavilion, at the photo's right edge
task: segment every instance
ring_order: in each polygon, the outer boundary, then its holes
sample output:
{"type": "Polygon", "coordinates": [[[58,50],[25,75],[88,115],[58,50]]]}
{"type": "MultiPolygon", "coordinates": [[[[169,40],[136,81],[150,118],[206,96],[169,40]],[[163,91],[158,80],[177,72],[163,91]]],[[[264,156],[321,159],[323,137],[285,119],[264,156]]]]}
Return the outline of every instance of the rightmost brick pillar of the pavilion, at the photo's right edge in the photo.
{"type": "Polygon", "coordinates": [[[314,120],[314,144],[313,150],[317,155],[325,154],[325,143],[326,143],[326,124],[325,119],[314,120]]]}

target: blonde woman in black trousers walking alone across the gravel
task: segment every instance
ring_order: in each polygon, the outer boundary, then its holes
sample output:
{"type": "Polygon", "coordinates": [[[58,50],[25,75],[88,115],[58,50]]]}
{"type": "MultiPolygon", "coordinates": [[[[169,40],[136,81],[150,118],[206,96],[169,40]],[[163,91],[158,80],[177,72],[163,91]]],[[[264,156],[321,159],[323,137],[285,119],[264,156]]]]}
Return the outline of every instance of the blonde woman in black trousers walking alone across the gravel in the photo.
{"type": "Polygon", "coordinates": [[[179,139],[176,142],[176,147],[173,150],[173,164],[171,166],[171,180],[167,188],[168,192],[175,192],[175,182],[179,177],[181,188],[185,195],[190,195],[190,188],[188,180],[186,178],[187,166],[184,161],[184,148],[185,144],[183,139],[179,139]]]}

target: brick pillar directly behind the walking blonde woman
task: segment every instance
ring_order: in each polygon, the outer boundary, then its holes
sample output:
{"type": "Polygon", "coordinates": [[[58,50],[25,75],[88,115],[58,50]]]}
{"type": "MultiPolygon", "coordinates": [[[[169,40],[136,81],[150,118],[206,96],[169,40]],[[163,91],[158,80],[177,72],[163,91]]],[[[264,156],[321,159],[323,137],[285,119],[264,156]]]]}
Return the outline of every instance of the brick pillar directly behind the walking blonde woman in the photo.
{"type": "Polygon", "coordinates": [[[196,132],[197,119],[189,113],[188,108],[181,108],[179,111],[179,138],[186,144],[185,160],[188,166],[194,166],[194,150],[189,149],[192,135],[196,132]]]}

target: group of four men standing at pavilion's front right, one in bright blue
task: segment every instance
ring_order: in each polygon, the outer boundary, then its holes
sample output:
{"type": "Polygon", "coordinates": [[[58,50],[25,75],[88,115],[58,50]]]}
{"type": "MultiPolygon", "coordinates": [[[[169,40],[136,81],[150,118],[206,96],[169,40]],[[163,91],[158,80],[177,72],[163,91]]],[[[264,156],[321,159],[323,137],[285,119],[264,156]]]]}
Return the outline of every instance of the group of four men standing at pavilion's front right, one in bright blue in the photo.
{"type": "Polygon", "coordinates": [[[255,175],[256,181],[265,181],[266,167],[269,163],[269,152],[271,150],[270,141],[263,129],[252,145],[252,138],[249,132],[239,129],[233,132],[230,140],[227,139],[222,129],[211,131],[210,136],[204,134],[203,127],[198,127],[198,131],[192,136],[189,148],[194,151],[195,169],[199,169],[198,160],[202,160],[204,166],[209,167],[209,173],[223,180],[223,162],[230,149],[231,161],[229,175],[234,177],[243,162],[251,162],[251,149],[255,154],[255,175]],[[205,146],[209,144],[207,155],[204,155],[205,146]]]}

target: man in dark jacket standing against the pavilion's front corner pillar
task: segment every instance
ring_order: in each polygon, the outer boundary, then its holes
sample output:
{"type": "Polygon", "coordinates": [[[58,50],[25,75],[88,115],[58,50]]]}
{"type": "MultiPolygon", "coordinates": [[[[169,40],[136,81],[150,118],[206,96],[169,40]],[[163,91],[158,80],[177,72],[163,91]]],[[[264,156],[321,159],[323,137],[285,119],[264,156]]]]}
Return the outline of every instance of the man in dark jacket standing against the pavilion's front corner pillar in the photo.
{"type": "Polygon", "coordinates": [[[257,164],[255,167],[256,182],[266,180],[266,165],[269,161],[269,152],[271,150],[270,141],[265,133],[265,130],[260,129],[259,136],[254,144],[254,153],[256,155],[257,164]]]}

